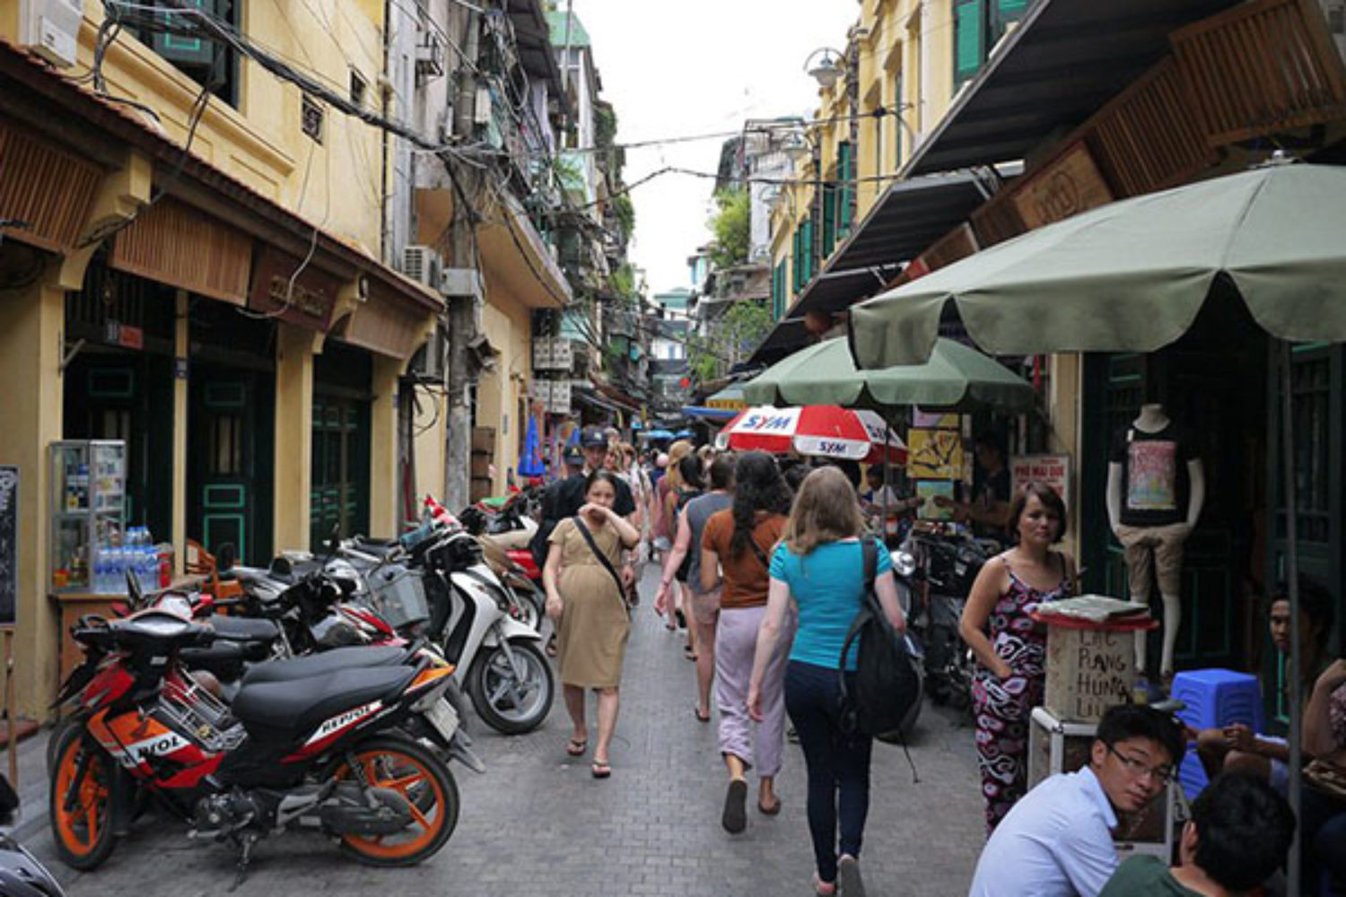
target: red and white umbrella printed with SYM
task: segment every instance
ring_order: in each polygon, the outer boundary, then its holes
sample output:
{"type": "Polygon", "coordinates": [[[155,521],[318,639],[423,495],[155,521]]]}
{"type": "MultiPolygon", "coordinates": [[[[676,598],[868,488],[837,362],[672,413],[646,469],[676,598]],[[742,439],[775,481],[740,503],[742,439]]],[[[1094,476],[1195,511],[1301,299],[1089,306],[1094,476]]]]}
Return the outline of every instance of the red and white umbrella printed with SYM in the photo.
{"type": "Polygon", "coordinates": [[[720,449],[771,455],[798,452],[817,457],[851,459],[878,464],[905,464],[907,446],[876,413],[837,405],[771,407],[759,405],[725,424],[715,444],[720,449]],[[887,446],[887,452],[884,452],[887,446]]]}

